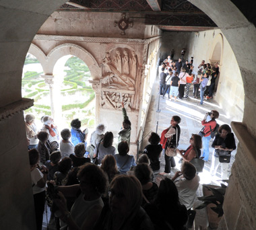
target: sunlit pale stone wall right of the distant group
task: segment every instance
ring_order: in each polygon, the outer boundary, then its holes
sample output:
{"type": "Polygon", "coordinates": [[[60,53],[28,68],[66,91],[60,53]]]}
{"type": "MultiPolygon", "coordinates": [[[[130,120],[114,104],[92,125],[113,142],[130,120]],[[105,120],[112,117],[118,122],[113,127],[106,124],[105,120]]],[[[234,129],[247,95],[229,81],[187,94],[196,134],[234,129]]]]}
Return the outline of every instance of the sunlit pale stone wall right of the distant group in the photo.
{"type": "MultiPolygon", "coordinates": [[[[245,107],[245,91],[236,56],[220,30],[191,33],[188,55],[194,57],[197,67],[201,60],[211,63],[216,59],[214,48],[220,44],[220,75],[215,100],[231,120],[242,121],[245,107]]],[[[195,68],[197,69],[197,68],[195,68]]]]}

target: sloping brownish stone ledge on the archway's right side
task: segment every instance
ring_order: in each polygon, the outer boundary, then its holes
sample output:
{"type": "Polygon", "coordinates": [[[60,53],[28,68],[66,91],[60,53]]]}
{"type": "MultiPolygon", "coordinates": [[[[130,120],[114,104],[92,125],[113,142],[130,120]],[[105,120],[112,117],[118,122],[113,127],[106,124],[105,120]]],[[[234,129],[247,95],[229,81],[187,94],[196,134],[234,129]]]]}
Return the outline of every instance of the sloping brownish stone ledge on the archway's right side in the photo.
{"type": "Polygon", "coordinates": [[[256,140],[249,132],[247,125],[243,122],[231,122],[231,127],[249,160],[256,161],[256,140]]]}

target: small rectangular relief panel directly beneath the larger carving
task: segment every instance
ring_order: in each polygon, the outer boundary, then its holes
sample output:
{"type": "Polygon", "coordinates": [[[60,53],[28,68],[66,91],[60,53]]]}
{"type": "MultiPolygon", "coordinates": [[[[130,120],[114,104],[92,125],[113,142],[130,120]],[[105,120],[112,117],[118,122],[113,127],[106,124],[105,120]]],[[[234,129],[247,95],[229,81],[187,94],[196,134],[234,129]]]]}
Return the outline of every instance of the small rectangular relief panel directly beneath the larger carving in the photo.
{"type": "Polygon", "coordinates": [[[119,93],[113,91],[102,91],[101,97],[101,106],[106,109],[115,109],[120,110],[122,108],[121,102],[125,104],[125,109],[132,109],[131,100],[133,98],[133,94],[130,93],[119,93]]]}

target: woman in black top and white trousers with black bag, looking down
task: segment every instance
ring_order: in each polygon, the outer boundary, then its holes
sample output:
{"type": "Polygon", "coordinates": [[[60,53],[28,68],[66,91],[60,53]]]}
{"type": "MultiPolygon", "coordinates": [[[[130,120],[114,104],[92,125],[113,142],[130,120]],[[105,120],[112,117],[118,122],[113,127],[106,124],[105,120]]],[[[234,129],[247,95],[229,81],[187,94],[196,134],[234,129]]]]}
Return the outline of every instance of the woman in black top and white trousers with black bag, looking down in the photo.
{"type": "Polygon", "coordinates": [[[228,163],[230,163],[231,152],[236,149],[234,134],[228,124],[222,124],[218,130],[218,135],[215,136],[212,147],[214,154],[212,155],[211,175],[215,176],[218,166],[222,168],[222,180],[228,179],[228,163]]]}

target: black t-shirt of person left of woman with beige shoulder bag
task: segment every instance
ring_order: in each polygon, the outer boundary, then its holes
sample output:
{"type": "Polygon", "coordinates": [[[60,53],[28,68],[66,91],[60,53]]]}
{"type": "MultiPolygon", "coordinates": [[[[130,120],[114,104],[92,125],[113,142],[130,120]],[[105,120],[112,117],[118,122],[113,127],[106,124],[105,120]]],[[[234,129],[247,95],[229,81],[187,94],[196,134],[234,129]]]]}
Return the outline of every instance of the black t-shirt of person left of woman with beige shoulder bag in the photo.
{"type": "Polygon", "coordinates": [[[153,171],[160,169],[159,155],[162,151],[162,145],[147,145],[143,153],[148,155],[150,159],[150,167],[153,171]]]}

